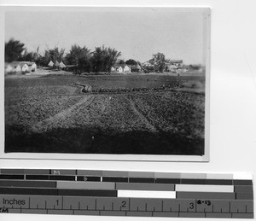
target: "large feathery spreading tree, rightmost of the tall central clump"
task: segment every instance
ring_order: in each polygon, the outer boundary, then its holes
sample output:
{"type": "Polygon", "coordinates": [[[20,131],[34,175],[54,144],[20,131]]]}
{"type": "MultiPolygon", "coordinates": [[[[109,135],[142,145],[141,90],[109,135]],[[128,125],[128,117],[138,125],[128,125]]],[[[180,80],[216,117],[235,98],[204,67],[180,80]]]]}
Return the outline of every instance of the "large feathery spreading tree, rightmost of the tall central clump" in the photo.
{"type": "Polygon", "coordinates": [[[93,72],[109,72],[110,68],[117,61],[121,52],[116,49],[96,47],[91,58],[93,72]]]}

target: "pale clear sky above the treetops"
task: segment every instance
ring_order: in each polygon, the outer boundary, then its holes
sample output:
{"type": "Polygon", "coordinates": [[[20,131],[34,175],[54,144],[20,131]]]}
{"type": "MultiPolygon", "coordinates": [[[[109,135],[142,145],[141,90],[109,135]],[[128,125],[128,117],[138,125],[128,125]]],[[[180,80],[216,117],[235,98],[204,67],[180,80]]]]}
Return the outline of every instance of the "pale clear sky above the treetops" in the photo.
{"type": "MultiPolygon", "coordinates": [[[[22,9],[5,13],[5,41],[15,38],[34,51],[73,44],[93,51],[105,45],[125,61],[148,61],[155,53],[185,64],[206,61],[205,13],[174,9],[22,9]]],[[[43,54],[43,53],[42,53],[43,54]]]]}

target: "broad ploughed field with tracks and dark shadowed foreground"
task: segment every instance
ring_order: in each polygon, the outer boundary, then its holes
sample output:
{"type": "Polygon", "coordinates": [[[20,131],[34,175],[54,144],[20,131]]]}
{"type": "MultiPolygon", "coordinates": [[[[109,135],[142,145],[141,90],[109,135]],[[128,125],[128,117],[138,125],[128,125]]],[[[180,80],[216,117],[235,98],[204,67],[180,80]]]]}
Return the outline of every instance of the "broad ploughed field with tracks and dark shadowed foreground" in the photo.
{"type": "Polygon", "coordinates": [[[6,78],[5,152],[202,155],[204,84],[166,75],[6,78]]]}

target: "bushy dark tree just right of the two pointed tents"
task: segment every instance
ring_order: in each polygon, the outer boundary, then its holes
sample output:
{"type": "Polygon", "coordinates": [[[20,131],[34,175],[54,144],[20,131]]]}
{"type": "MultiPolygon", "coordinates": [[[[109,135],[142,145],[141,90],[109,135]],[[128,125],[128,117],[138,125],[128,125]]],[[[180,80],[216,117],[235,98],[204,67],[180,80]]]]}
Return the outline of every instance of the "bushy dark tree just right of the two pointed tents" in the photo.
{"type": "Polygon", "coordinates": [[[67,64],[77,65],[79,73],[88,72],[91,69],[91,52],[85,46],[81,48],[79,45],[74,44],[69,53],[65,57],[67,64]]]}

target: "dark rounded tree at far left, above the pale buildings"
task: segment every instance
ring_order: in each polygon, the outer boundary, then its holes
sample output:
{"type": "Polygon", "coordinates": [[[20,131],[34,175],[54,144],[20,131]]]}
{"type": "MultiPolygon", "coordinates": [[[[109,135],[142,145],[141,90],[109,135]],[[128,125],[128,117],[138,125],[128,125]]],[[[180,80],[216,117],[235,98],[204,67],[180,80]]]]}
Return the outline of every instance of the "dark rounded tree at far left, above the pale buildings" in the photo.
{"type": "Polygon", "coordinates": [[[4,61],[19,61],[23,51],[26,49],[24,46],[25,44],[20,43],[20,41],[15,40],[15,38],[9,39],[9,42],[5,43],[4,61]]]}

